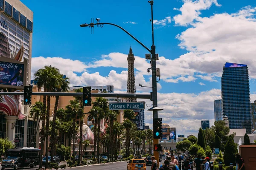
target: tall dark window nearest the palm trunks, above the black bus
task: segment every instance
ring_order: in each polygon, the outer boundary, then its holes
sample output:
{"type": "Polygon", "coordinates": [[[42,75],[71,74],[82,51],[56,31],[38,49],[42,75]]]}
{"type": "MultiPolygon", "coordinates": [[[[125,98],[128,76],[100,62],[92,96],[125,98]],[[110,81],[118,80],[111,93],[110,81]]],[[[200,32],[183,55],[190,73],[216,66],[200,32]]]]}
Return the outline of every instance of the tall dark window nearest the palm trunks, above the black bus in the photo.
{"type": "Polygon", "coordinates": [[[28,138],[27,138],[27,147],[35,147],[35,139],[36,139],[36,124],[32,120],[28,120],[28,138]]]}

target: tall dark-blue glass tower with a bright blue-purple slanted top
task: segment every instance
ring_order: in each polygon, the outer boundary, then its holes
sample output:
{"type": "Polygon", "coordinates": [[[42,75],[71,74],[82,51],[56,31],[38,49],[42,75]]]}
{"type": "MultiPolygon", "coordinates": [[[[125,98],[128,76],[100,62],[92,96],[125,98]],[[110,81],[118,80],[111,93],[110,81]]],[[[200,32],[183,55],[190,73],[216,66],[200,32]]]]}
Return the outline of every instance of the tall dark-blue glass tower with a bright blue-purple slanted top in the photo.
{"type": "Polygon", "coordinates": [[[230,129],[252,131],[250,85],[247,65],[226,62],[221,77],[222,113],[230,129]]]}

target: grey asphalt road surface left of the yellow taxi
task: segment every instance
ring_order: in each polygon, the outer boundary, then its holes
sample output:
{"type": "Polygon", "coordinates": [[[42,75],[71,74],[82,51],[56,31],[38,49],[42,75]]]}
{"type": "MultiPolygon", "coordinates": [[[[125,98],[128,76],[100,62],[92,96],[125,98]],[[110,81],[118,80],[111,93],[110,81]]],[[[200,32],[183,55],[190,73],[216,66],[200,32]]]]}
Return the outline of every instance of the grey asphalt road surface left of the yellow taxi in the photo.
{"type": "MultiPolygon", "coordinates": [[[[67,170],[126,170],[127,168],[127,162],[114,162],[114,163],[107,163],[107,164],[99,164],[99,165],[91,165],[86,167],[73,167],[67,170]]],[[[38,166],[36,168],[20,168],[19,170],[37,170],[38,166]]],[[[150,169],[149,166],[147,166],[147,169],[150,169]]],[[[11,168],[6,168],[5,170],[13,170],[11,168]]]]}

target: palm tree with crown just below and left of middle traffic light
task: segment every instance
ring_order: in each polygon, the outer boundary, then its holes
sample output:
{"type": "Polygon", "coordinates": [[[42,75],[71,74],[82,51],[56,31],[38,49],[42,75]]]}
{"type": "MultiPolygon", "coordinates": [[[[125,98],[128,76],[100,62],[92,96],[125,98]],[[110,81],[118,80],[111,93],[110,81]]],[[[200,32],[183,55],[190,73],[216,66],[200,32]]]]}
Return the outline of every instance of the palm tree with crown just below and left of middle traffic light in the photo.
{"type": "MultiPolygon", "coordinates": [[[[75,100],[70,100],[70,105],[66,106],[67,111],[72,115],[73,118],[73,130],[76,129],[76,115],[79,113],[84,113],[84,110],[81,108],[80,102],[75,100]]],[[[73,134],[73,162],[75,163],[75,142],[76,134],[73,134]]]]}

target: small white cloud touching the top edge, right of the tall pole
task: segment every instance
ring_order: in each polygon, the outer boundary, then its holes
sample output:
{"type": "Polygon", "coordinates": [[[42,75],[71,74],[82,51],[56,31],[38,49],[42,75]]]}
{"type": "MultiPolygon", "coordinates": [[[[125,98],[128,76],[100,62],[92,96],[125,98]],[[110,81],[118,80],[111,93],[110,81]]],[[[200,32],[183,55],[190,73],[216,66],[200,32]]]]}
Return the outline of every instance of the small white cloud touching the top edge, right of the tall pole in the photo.
{"type": "MultiPolygon", "coordinates": [[[[217,0],[183,0],[183,2],[183,6],[179,9],[181,14],[173,17],[175,24],[180,26],[187,26],[189,23],[198,19],[201,14],[200,11],[209,9],[212,4],[220,6],[217,0]]],[[[177,10],[177,8],[174,8],[174,10],[177,10]]]]}

